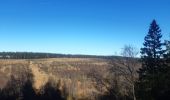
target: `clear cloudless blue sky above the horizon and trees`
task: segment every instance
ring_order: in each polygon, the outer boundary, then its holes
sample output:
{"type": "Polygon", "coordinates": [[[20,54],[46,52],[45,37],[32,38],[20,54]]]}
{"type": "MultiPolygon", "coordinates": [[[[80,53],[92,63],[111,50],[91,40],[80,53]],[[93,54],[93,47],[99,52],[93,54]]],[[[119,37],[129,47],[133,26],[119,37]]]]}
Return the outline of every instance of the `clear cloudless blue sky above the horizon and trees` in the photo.
{"type": "Polygon", "coordinates": [[[170,0],[0,0],[0,51],[114,55],[153,19],[168,38],[170,0]]]}

